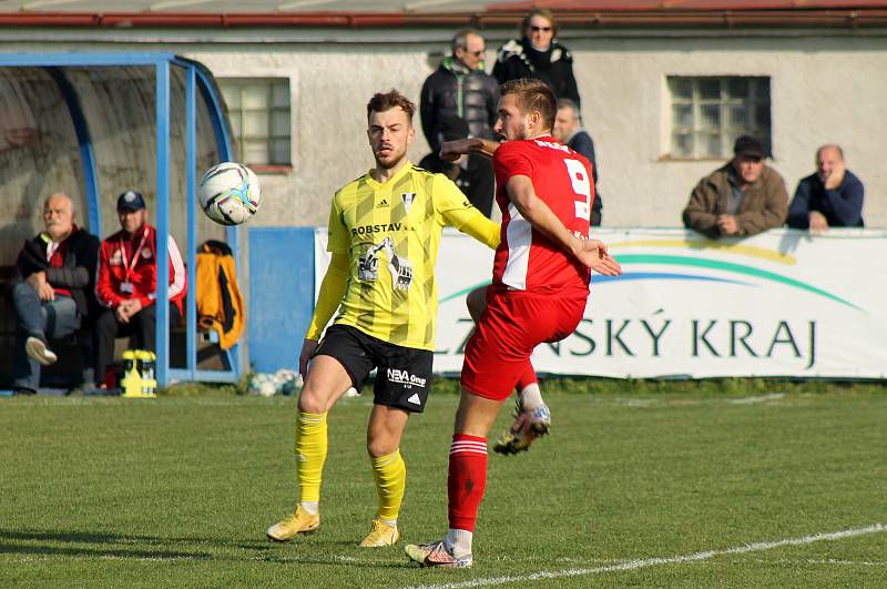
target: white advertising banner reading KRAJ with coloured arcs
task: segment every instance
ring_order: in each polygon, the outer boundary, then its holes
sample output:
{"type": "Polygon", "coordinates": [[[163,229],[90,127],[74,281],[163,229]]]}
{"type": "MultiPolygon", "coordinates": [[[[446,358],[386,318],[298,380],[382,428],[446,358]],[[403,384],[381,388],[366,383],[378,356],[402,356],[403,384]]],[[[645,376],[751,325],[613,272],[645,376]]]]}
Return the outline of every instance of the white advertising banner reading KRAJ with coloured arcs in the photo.
{"type": "MultiPolygon", "coordinates": [[[[326,272],[318,230],[317,281],[326,272]]],[[[887,375],[887,232],[775,230],[712,241],[676,229],[595,229],[622,264],[592,276],[575,333],[539,346],[537,372],[616,378],[887,375]]],[[[465,296],[492,252],[445,231],[437,262],[436,373],[458,373],[465,296]]]]}

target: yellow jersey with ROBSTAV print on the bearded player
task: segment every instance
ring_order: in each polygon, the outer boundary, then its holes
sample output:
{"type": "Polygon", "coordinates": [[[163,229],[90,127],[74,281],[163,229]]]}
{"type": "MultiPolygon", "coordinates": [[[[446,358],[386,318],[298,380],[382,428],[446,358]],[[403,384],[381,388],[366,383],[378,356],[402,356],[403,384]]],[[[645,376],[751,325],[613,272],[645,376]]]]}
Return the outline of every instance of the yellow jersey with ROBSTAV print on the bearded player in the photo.
{"type": "MultiPolygon", "coordinates": [[[[441,174],[407,163],[380,184],[370,172],[333,197],[327,250],[348,256],[344,293],[327,292],[340,296],[334,323],[398,346],[434,351],[435,263],[443,226],[495,248],[499,225],[441,174]]],[[[309,338],[329,319],[317,316],[330,308],[326,303],[318,301],[309,338]]]]}

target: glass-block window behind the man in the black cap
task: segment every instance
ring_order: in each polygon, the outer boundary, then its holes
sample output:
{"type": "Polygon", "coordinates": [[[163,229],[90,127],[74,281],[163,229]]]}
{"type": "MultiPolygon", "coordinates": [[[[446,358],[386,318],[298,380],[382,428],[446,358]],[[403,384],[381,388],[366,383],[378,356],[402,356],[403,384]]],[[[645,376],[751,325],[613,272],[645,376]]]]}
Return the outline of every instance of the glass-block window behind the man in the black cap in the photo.
{"type": "Polygon", "coordinates": [[[732,158],[741,135],[758,138],[771,153],[769,78],[669,75],[667,82],[671,158],[732,158]]]}

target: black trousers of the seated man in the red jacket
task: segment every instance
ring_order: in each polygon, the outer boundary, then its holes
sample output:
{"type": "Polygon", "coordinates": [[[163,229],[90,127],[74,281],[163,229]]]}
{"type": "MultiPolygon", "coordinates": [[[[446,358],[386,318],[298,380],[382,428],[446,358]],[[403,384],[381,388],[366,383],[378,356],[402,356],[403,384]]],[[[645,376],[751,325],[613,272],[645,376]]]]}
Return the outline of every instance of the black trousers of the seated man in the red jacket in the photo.
{"type": "MultiPolygon", "coordinates": [[[[170,303],[170,325],[177,325],[182,314],[175,303],[170,303]]],[[[130,336],[130,346],[135,349],[156,352],[157,305],[143,308],[132,317],[130,323],[118,321],[113,309],[105,309],[95,319],[93,328],[95,349],[95,380],[104,382],[108,365],[114,359],[114,339],[130,336]]]]}

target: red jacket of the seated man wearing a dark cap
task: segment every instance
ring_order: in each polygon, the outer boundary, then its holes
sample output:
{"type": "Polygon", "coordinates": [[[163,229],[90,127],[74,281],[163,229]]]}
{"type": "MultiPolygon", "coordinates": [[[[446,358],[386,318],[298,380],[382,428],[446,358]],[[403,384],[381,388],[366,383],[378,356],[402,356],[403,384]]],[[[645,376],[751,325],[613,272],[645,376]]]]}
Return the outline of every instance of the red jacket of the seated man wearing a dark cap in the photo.
{"type": "MultiPolygon", "coordinates": [[[[182,311],[182,299],[187,292],[187,276],[182,254],[172,235],[167,241],[170,252],[170,301],[182,311]]],[[[99,275],[95,278],[95,297],[99,303],[114,308],[123,301],[137,298],[142,307],[154,304],[157,297],[157,231],[145,223],[134,235],[119,231],[102,241],[99,251],[99,275]]]]}

